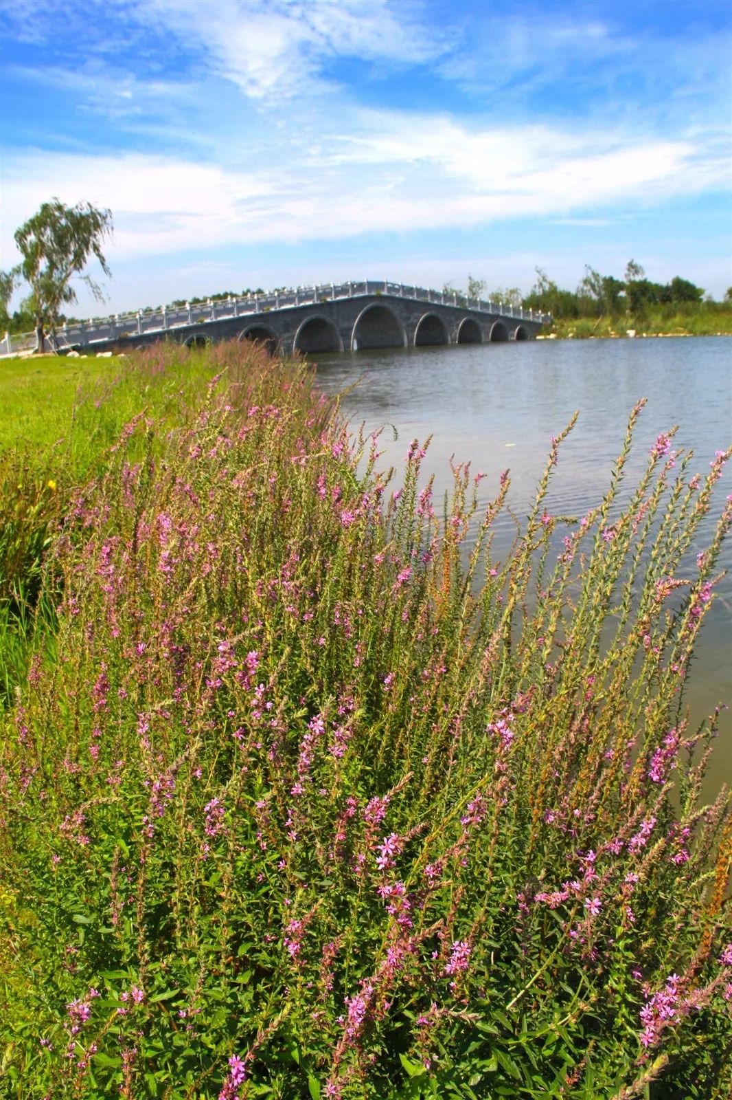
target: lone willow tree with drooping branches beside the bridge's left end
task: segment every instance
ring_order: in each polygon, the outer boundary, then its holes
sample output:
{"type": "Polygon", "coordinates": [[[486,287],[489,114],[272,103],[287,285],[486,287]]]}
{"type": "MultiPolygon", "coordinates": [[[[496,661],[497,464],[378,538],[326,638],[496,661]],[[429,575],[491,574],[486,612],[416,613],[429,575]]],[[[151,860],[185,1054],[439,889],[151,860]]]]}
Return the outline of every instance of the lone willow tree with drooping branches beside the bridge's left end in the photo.
{"type": "Polygon", "coordinates": [[[101,248],[111,235],[111,210],[98,210],[90,202],[67,207],[56,198],[15,230],[23,258],[12,274],[31,288],[29,306],[35,317],[38,351],[45,350],[46,333],[55,333],[62,306],[77,300],[73,279],[86,283],[98,301],[103,299],[99,285],[82,272],[90,256],[96,256],[111,277],[101,248]]]}

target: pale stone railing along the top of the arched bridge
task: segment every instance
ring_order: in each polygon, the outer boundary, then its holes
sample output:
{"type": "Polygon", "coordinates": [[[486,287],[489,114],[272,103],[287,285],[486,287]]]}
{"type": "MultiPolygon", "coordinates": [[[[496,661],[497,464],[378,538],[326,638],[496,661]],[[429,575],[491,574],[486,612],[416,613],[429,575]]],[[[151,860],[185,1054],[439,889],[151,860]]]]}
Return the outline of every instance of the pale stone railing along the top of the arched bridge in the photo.
{"type": "MultiPolygon", "coordinates": [[[[348,283],[326,283],[317,286],[300,286],[248,297],[214,298],[207,301],[186,302],[185,306],[166,306],[163,309],[142,309],[134,314],[115,314],[113,317],[97,317],[88,321],[63,324],[56,331],[59,348],[75,344],[103,343],[124,337],[167,332],[190,324],[206,324],[236,317],[251,317],[270,310],[288,309],[297,306],[312,306],[318,302],[335,301],[342,298],[359,298],[374,295],[408,298],[440,306],[458,306],[476,312],[493,314],[518,320],[531,320],[542,324],[551,321],[547,314],[513,307],[498,299],[469,298],[458,290],[432,290],[421,286],[390,283],[388,279],[362,279],[348,283]]],[[[0,354],[18,352],[29,346],[34,333],[5,334],[0,341],[0,354]]]]}

